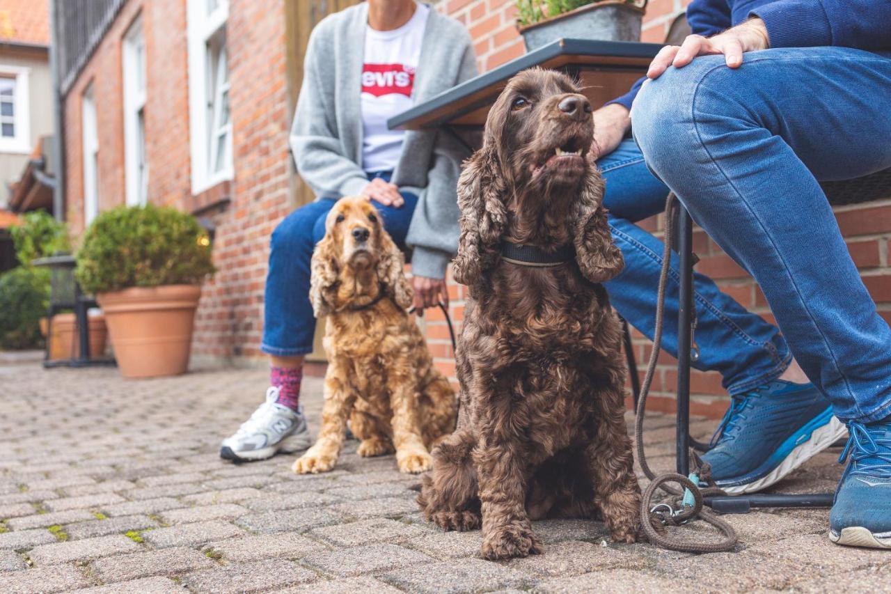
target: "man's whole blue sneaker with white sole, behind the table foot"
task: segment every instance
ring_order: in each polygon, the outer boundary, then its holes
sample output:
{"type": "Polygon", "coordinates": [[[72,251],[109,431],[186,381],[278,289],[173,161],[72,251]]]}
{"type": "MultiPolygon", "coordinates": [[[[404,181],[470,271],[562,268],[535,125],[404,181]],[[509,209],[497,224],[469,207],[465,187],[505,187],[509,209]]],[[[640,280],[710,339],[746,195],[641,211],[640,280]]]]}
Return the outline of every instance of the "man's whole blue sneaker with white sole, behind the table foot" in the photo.
{"type": "Polygon", "coordinates": [[[761,491],[845,436],[813,384],[774,380],[733,396],[703,461],[732,495],[761,491]]]}

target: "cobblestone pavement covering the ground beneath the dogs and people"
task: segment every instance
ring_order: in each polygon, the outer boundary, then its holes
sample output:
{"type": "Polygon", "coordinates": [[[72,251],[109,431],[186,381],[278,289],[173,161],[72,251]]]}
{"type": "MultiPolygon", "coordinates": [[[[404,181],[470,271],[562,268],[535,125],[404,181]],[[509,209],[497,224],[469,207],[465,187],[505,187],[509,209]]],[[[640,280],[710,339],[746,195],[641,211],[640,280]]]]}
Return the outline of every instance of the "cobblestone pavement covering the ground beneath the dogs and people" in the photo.
{"type": "MultiPolygon", "coordinates": [[[[484,561],[479,532],[425,524],[417,477],[392,457],[359,458],[355,441],[317,476],[292,474],[288,455],[219,459],[265,381],[262,371],[124,381],[114,369],[0,367],[0,592],[891,591],[891,554],[832,545],[825,510],[727,516],[738,550],[699,557],[613,544],[601,523],[539,522],[543,556],[484,561]]],[[[314,430],[320,392],[307,378],[314,430]]],[[[672,419],[648,426],[648,451],[668,469],[672,419]]],[[[837,456],[814,458],[781,489],[833,489],[837,456]]]]}

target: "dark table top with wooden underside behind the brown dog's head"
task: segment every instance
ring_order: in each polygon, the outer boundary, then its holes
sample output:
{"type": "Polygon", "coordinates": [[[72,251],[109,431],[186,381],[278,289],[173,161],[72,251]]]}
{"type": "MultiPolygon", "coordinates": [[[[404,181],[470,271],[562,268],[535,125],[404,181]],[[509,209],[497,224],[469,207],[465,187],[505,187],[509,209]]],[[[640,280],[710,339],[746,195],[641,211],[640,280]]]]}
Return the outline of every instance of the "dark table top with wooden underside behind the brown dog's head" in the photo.
{"type": "Polygon", "coordinates": [[[586,87],[584,94],[595,107],[625,94],[646,72],[661,44],[628,41],[558,39],[452,87],[412,109],[390,118],[390,129],[416,130],[449,125],[480,127],[507,81],[533,66],[568,70],[586,87]]]}

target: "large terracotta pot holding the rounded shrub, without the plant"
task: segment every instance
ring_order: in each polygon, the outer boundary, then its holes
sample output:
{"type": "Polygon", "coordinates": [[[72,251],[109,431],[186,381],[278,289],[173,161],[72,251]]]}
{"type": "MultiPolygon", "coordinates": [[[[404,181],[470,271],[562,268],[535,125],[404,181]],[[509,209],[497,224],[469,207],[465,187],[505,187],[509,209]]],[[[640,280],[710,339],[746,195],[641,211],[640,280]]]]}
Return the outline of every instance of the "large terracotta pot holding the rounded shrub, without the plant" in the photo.
{"type": "Polygon", "coordinates": [[[200,296],[200,285],[133,287],[97,294],[121,375],[184,373],[200,296]]]}

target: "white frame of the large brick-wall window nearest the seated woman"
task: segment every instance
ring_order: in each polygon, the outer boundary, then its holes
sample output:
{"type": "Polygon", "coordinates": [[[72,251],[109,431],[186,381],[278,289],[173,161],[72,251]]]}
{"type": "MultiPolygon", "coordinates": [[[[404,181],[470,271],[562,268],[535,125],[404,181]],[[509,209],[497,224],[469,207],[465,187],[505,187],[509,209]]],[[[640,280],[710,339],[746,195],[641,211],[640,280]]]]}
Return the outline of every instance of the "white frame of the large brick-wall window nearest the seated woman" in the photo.
{"type": "MultiPolygon", "coordinates": [[[[220,100],[223,93],[228,91],[228,82],[225,87],[214,85],[219,73],[210,72],[212,56],[208,51],[215,38],[225,35],[229,0],[217,0],[216,8],[208,14],[209,4],[208,0],[188,0],[186,5],[192,194],[200,194],[234,177],[231,116],[225,126],[217,126],[220,100]],[[213,88],[215,86],[217,88],[213,88]],[[212,163],[217,158],[217,138],[223,134],[225,163],[222,169],[215,172],[212,163]]],[[[225,45],[221,51],[225,53],[225,45]]],[[[228,68],[228,64],[225,67],[228,68]]]]}

